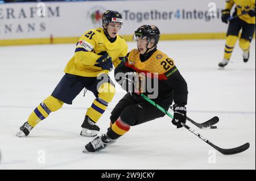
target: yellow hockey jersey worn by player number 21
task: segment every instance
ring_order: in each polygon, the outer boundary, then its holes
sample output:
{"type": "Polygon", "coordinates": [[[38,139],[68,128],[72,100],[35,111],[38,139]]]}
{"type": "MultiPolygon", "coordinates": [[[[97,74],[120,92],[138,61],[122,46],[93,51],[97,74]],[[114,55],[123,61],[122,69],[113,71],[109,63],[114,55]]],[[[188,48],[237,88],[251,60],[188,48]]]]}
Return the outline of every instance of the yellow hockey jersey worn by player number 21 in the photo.
{"type": "Polygon", "coordinates": [[[77,42],[75,55],[69,60],[64,72],[82,77],[97,77],[98,74],[108,73],[108,70],[94,66],[98,58],[101,57],[98,53],[108,52],[116,67],[126,56],[127,48],[126,41],[119,35],[114,43],[111,43],[103,28],[89,30],[77,42]]]}

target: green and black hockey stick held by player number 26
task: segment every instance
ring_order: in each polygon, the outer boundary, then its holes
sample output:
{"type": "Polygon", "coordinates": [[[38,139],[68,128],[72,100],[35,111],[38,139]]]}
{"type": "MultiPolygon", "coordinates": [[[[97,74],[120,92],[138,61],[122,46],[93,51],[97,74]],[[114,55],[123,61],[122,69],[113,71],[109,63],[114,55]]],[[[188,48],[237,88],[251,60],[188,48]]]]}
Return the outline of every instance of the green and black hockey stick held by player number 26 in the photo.
{"type": "MultiPolygon", "coordinates": [[[[170,112],[164,110],[164,108],[160,107],[158,104],[156,104],[154,101],[152,101],[151,99],[148,99],[146,95],[141,94],[142,98],[144,98],[145,100],[147,100],[149,103],[151,103],[153,106],[155,106],[156,108],[158,108],[158,110],[162,111],[163,113],[165,113],[166,115],[168,115],[169,117],[171,117],[172,119],[174,118],[174,116],[171,115],[170,112]]],[[[188,125],[181,123],[181,125],[183,125],[184,128],[188,129],[191,133],[195,134],[196,136],[198,136],[201,140],[204,140],[208,145],[212,146],[214,149],[220,151],[220,153],[224,154],[224,155],[230,155],[230,154],[237,154],[237,153],[241,153],[245,150],[247,150],[250,147],[249,142],[247,142],[246,144],[243,144],[241,146],[238,146],[237,148],[231,148],[231,149],[223,149],[220,148],[216,145],[214,145],[212,142],[210,142],[209,140],[207,140],[207,138],[205,138],[204,136],[202,136],[201,134],[197,133],[195,130],[191,129],[188,127],[188,125]]]]}

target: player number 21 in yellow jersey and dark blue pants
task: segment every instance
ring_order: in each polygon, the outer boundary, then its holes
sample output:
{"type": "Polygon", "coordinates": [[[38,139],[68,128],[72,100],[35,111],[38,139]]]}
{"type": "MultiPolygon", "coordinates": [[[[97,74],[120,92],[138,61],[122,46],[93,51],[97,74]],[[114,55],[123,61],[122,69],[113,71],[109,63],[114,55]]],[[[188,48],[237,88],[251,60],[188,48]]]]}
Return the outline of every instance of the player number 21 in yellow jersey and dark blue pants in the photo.
{"type": "Polygon", "coordinates": [[[104,12],[102,28],[89,30],[80,37],[75,55],[64,69],[64,77],[52,94],[35,108],[16,136],[28,136],[32,128],[46,119],[51,112],[59,110],[64,103],[72,104],[82,89],[92,91],[96,99],[85,113],[80,135],[97,135],[100,128],[96,123],[115,93],[114,83],[108,72],[113,64],[117,66],[127,54],[127,44],[118,35],[121,27],[122,16],[119,12],[104,12]]]}

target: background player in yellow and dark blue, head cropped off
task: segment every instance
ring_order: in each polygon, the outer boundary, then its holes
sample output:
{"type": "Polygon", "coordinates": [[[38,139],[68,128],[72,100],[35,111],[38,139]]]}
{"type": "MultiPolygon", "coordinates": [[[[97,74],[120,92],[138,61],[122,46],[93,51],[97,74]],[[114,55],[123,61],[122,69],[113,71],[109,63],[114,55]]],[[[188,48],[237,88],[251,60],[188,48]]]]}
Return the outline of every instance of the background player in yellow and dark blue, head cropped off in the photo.
{"type": "Polygon", "coordinates": [[[240,48],[243,50],[243,61],[247,62],[250,57],[250,42],[255,32],[255,0],[226,0],[226,8],[222,10],[222,22],[228,23],[224,59],[218,64],[220,69],[224,69],[232,56],[233,49],[238,40],[240,30],[240,48]],[[233,16],[230,10],[236,5],[233,16]]]}

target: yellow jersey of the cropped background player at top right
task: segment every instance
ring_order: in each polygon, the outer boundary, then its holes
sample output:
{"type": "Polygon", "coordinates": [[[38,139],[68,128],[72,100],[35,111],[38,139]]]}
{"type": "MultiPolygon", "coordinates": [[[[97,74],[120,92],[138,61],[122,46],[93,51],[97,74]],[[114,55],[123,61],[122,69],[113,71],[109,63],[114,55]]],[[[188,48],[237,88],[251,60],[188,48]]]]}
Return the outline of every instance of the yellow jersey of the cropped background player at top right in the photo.
{"type": "MultiPolygon", "coordinates": [[[[255,9],[255,0],[226,0],[226,9],[231,10],[234,4],[236,4],[237,15],[255,9]]],[[[248,24],[255,24],[255,16],[251,17],[248,14],[244,14],[239,16],[239,18],[248,24]]]]}

